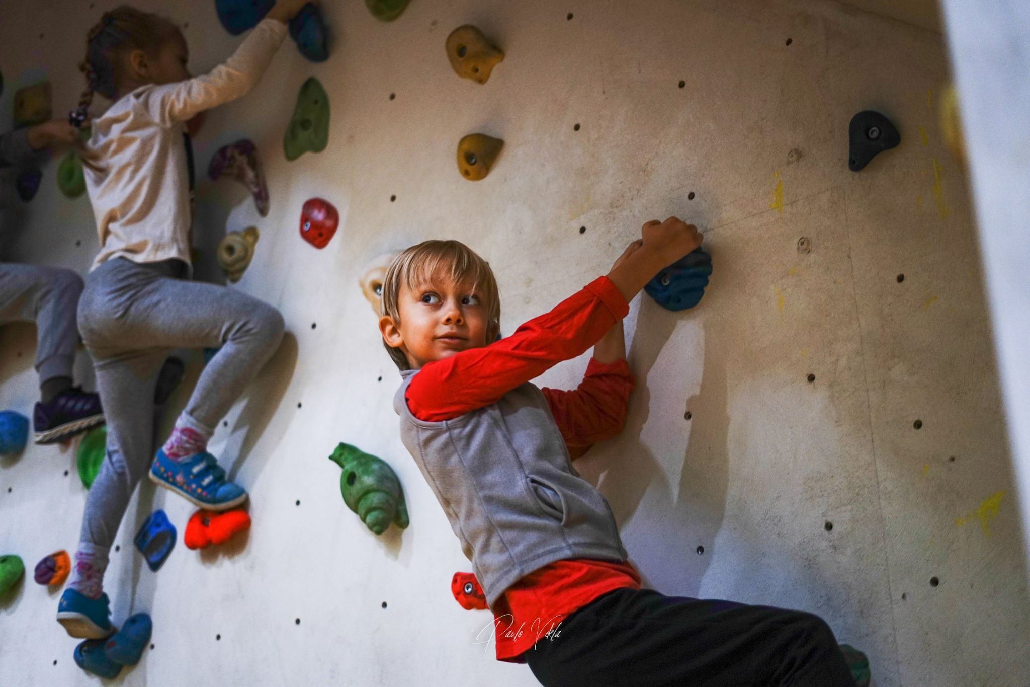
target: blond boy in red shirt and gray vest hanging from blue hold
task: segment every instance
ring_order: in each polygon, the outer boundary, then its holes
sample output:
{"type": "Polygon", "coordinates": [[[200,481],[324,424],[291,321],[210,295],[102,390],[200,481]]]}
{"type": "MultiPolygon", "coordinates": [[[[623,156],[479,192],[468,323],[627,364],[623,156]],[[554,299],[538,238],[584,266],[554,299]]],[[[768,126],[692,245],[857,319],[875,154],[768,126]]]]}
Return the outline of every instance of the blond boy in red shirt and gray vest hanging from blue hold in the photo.
{"type": "Polygon", "coordinates": [[[499,341],[496,282],[467,246],[427,241],[387,271],[379,329],[403,378],[402,439],[499,628],[517,630],[497,658],[545,687],[855,684],[815,615],[642,589],[607,500],[570,461],[569,444],[621,428],[628,302],[700,241],[676,217],[649,221],[607,276],[499,341]],[[576,391],[529,383],[591,345],[576,391]]]}

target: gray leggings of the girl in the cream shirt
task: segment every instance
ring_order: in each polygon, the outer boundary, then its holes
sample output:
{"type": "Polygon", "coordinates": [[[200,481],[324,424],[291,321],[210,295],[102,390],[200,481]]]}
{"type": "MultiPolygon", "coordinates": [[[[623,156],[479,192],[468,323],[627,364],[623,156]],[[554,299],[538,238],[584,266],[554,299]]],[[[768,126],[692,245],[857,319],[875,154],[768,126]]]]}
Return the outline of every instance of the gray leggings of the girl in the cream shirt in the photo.
{"type": "Polygon", "coordinates": [[[87,277],[78,327],[107,418],[107,454],[82,518],[80,542],[91,548],[110,547],[153,459],[153,391],[168,352],[221,346],[179,416],[209,436],[282,340],[278,310],[225,286],[176,278],[184,267],[115,257],[87,277]]]}

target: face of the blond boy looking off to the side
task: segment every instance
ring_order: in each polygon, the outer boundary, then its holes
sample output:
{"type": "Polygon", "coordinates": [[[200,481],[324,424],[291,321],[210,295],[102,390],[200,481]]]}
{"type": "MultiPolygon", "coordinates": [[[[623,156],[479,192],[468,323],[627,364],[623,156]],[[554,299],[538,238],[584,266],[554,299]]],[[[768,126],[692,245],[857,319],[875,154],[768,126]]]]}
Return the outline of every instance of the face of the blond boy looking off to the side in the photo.
{"type": "Polygon", "coordinates": [[[379,331],[386,345],[404,351],[412,370],[486,345],[486,310],[471,282],[437,276],[413,288],[402,283],[398,314],[400,321],[383,315],[379,331]]]}

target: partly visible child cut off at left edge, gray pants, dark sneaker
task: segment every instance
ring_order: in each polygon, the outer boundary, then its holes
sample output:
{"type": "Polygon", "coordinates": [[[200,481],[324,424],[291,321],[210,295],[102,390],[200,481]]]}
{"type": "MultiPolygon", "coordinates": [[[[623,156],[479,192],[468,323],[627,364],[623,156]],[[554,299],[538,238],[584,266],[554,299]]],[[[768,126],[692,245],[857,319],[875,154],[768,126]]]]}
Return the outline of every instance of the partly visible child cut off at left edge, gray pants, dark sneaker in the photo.
{"type": "MultiPolygon", "coordinates": [[[[71,145],[77,137],[78,131],[61,119],[0,135],[0,168],[28,162],[52,145],[71,145]]],[[[64,441],[104,421],[100,397],[72,386],[81,294],[82,278],[71,270],[0,262],[0,324],[36,322],[40,398],[32,422],[37,444],[64,441]]]]}

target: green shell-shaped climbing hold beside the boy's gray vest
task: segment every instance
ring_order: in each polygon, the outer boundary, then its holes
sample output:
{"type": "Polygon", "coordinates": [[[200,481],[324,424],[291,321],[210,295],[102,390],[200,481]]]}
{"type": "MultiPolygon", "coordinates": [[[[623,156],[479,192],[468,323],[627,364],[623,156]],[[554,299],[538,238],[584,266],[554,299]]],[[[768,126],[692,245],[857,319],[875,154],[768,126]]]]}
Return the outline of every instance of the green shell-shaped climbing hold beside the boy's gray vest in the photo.
{"type": "Polygon", "coordinates": [[[347,508],[357,513],[369,529],[381,535],[390,522],[408,526],[408,505],[397,473],[382,458],[341,443],[329,459],[343,469],[340,493],[347,508]]]}

